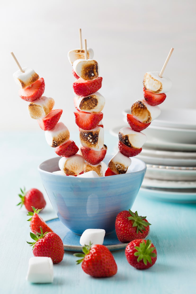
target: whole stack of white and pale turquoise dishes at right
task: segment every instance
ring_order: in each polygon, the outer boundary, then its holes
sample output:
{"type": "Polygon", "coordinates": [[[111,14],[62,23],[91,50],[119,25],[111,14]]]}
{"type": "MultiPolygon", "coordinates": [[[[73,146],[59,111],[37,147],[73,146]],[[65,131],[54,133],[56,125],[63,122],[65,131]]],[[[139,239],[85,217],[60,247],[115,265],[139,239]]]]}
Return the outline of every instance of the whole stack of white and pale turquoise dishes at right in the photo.
{"type": "MultiPolygon", "coordinates": [[[[130,110],[123,111],[125,122],[127,113],[130,110]]],[[[118,136],[120,128],[112,133],[118,136]]],[[[147,141],[137,157],[146,163],[147,171],[140,194],[196,201],[196,109],[161,110],[142,132],[147,141]]]]}

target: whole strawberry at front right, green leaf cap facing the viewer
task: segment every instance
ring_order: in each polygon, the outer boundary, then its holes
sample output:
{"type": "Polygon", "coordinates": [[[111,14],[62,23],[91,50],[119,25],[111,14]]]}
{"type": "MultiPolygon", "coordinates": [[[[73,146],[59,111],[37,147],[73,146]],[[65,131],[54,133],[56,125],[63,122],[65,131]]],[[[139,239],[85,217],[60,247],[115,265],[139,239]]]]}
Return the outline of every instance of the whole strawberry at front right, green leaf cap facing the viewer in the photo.
{"type": "Polygon", "coordinates": [[[157,250],[151,240],[136,239],[125,248],[125,256],[134,268],[145,270],[155,264],[157,250]]]}

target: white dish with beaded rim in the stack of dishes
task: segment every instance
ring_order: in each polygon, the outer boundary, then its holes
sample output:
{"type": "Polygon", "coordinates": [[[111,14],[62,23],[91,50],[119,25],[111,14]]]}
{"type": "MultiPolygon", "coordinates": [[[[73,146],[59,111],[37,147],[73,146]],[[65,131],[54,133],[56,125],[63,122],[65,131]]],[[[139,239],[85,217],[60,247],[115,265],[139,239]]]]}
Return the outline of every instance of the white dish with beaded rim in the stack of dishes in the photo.
{"type": "Polygon", "coordinates": [[[195,181],[196,167],[147,164],[146,178],[170,181],[195,181]]]}

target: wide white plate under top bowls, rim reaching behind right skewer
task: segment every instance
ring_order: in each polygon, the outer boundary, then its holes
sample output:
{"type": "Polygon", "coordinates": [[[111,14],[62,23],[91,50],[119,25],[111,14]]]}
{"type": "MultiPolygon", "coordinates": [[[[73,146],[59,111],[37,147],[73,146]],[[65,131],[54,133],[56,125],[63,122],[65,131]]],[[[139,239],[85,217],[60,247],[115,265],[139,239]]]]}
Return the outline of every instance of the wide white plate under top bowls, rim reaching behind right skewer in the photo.
{"type": "MultiPolygon", "coordinates": [[[[128,125],[126,125],[127,127],[128,125]]],[[[118,137],[118,133],[124,126],[115,127],[110,130],[110,134],[118,137]]],[[[146,143],[143,145],[145,148],[167,150],[167,151],[196,151],[196,144],[183,144],[183,143],[172,143],[172,142],[162,142],[154,138],[147,138],[146,143]],[[152,141],[151,141],[152,140],[152,141]]]]}

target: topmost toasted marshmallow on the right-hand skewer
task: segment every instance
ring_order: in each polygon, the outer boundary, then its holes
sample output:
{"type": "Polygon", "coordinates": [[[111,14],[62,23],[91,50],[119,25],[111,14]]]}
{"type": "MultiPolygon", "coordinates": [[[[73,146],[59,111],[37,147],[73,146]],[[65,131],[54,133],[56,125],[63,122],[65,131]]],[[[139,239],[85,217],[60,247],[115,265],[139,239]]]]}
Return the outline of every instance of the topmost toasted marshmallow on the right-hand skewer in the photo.
{"type": "Polygon", "coordinates": [[[156,94],[166,93],[172,88],[172,81],[167,76],[160,78],[159,71],[150,71],[145,73],[143,85],[146,90],[156,94]]]}

